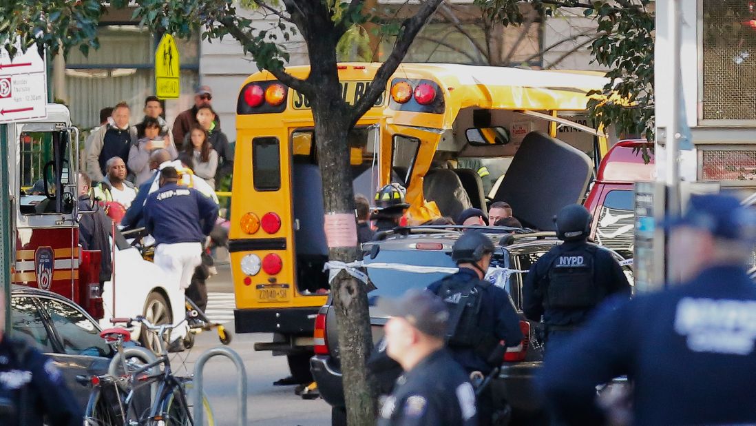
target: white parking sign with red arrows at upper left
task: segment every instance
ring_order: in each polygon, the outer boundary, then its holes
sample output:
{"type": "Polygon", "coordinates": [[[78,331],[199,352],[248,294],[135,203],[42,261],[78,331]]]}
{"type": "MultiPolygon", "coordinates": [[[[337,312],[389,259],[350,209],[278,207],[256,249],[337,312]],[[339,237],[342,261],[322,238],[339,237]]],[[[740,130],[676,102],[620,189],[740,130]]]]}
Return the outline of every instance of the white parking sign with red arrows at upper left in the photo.
{"type": "Polygon", "coordinates": [[[32,47],[11,61],[0,48],[0,123],[47,115],[47,64],[32,47]]]}

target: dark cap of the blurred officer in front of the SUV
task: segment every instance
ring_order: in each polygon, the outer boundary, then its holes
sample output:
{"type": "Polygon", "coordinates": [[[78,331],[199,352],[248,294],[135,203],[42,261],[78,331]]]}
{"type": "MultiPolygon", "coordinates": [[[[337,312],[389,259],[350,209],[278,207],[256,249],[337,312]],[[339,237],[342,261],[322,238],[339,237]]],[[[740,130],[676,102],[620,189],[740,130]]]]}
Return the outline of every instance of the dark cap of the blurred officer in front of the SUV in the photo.
{"type": "Polygon", "coordinates": [[[440,297],[426,290],[409,290],[399,299],[381,297],[378,309],[388,316],[401,316],[421,333],[443,339],[449,312],[440,297]]]}

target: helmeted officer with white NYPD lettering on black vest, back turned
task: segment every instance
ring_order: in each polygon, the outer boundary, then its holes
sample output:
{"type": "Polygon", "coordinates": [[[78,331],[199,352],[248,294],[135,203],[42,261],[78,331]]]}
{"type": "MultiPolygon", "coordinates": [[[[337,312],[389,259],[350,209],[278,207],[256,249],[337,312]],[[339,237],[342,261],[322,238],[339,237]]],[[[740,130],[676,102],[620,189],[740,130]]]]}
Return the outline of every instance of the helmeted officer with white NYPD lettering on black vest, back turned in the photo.
{"type": "Polygon", "coordinates": [[[556,215],[556,235],[564,241],[544,254],[525,275],[525,317],[546,326],[547,351],[562,346],[602,300],[627,300],[630,284],[608,250],[587,242],[590,213],[580,204],[556,215]]]}

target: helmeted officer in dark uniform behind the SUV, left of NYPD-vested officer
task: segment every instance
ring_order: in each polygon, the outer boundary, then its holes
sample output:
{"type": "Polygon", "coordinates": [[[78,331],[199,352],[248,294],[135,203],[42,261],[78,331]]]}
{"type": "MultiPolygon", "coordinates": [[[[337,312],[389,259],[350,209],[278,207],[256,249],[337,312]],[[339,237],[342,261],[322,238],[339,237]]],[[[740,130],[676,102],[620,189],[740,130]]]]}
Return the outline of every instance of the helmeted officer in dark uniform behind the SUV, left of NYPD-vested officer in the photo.
{"type": "MultiPolygon", "coordinates": [[[[503,348],[517,346],[522,340],[519,316],[509,294],[483,279],[493,253],[490,238],[477,231],[465,232],[451,248],[459,272],[428,286],[448,306],[449,350],[468,374],[488,375],[501,364],[503,348]]],[[[494,407],[502,405],[491,400],[489,390],[478,401],[481,424],[488,424],[494,407]]]]}

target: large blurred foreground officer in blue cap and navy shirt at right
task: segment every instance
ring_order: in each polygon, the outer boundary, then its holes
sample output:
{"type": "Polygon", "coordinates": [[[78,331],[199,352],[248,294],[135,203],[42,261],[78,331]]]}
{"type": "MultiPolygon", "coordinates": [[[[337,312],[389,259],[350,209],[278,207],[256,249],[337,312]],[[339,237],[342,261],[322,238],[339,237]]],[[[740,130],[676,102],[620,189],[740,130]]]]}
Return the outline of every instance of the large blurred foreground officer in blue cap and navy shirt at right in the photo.
{"type": "Polygon", "coordinates": [[[756,285],[746,268],[756,212],[723,194],[693,195],[668,230],[664,291],[603,309],[544,364],[541,387],[567,424],[604,424],[596,385],[633,380],[632,424],[754,424],[756,285]]]}

